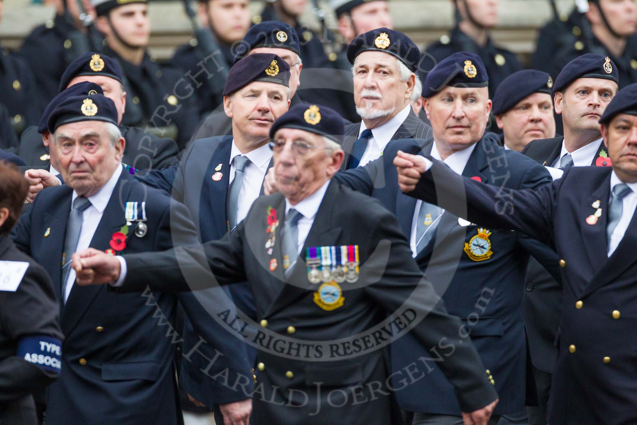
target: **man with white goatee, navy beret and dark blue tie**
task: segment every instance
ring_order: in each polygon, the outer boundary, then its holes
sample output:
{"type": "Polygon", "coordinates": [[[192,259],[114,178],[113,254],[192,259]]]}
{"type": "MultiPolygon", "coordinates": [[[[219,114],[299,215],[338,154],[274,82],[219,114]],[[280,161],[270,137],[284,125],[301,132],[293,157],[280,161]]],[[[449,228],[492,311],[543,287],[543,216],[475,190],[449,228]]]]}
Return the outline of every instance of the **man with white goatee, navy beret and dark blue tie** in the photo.
{"type": "Polygon", "coordinates": [[[380,157],[390,140],[430,136],[431,127],[410,106],[420,61],[418,47],[410,38],[389,28],[365,32],[350,43],[347,59],[362,122],[345,128],[342,169],[380,157]]]}

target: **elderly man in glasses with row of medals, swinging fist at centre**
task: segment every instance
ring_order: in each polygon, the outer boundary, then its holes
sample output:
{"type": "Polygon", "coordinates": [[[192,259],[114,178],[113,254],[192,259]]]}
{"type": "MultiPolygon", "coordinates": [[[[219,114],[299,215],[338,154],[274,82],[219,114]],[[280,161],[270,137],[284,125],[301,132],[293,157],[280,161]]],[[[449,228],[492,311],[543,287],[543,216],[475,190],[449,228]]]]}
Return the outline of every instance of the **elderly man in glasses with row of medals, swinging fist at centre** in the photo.
{"type": "Polygon", "coordinates": [[[157,273],[162,291],[247,279],[261,321],[251,338],[260,349],[252,424],[394,423],[392,391],[401,384],[389,381],[383,347],[390,338],[369,338],[388,315],[399,319],[397,328],[390,325],[394,338],[404,338],[407,322],[420,321],[412,333],[422,347],[455,347],[440,367],[466,424],[486,424],[496,393],[473,345],[457,334],[461,322],[447,315],[412,259],[396,218],[333,181],[343,130],[327,107],[294,106],[270,131],[281,193],[257,199],[235,231],[205,243],[203,252],[113,258],[87,250],[74,257],[80,281],[129,292],[141,289],[139,277],[155,282],[157,273]],[[192,279],[210,271],[208,279],[192,279]]]}

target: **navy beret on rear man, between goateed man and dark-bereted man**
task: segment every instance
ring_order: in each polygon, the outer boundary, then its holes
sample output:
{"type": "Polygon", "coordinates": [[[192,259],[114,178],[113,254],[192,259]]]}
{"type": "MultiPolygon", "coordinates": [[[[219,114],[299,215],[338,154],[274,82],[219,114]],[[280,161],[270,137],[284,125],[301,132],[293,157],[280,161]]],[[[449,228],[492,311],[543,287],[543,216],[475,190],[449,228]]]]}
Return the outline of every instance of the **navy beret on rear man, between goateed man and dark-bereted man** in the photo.
{"type": "Polygon", "coordinates": [[[285,48],[297,55],[301,54],[299,36],[294,28],[278,20],[266,20],[252,25],[241,43],[234,47],[234,62],[245,57],[250,50],[259,47],[285,48]]]}

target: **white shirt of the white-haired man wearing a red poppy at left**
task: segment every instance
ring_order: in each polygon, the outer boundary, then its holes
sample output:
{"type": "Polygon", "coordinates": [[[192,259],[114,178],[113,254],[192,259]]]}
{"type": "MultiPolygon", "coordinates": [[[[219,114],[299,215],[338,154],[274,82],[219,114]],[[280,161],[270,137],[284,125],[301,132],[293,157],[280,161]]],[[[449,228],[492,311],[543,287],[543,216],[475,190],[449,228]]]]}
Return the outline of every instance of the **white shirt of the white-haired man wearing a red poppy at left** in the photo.
{"type": "MultiPolygon", "coordinates": [[[[93,239],[97,225],[102,219],[104,209],[106,208],[108,201],[111,199],[111,194],[113,194],[113,190],[115,189],[115,185],[117,184],[117,180],[119,180],[123,169],[124,166],[118,166],[113,175],[111,175],[111,178],[108,179],[108,182],[106,182],[106,184],[104,184],[96,194],[89,196],[90,206],[82,212],[82,229],[80,229],[80,238],[78,239],[78,245],[75,249],[76,252],[89,247],[90,241],[93,239]]],[[[73,202],[77,197],[78,194],[73,191],[73,196],[71,197],[71,211],[73,211],[73,202]]],[[[66,257],[64,258],[64,261],[68,263],[71,261],[71,255],[73,255],[73,253],[71,252],[69,254],[66,252],[65,255],[66,257]]],[[[70,264],[68,267],[70,267],[70,264]]],[[[66,292],[64,292],[65,303],[66,299],[69,298],[69,294],[71,293],[71,289],[73,289],[74,283],[75,270],[71,268],[69,271],[69,277],[66,279],[66,292]]]]}

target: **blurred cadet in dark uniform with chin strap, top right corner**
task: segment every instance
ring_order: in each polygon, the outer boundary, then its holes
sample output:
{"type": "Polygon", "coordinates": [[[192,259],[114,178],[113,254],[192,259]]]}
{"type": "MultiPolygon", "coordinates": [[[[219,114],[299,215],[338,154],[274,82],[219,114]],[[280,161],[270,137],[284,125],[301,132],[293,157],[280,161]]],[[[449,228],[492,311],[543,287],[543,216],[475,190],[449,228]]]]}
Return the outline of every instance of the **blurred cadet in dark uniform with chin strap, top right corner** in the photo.
{"type": "Polygon", "coordinates": [[[580,14],[578,38],[554,54],[548,61],[551,64],[548,73],[557,78],[568,62],[580,55],[594,53],[608,56],[615,63],[620,89],[637,82],[637,10],[634,1],[589,0],[588,5],[589,11],[580,14]]]}

